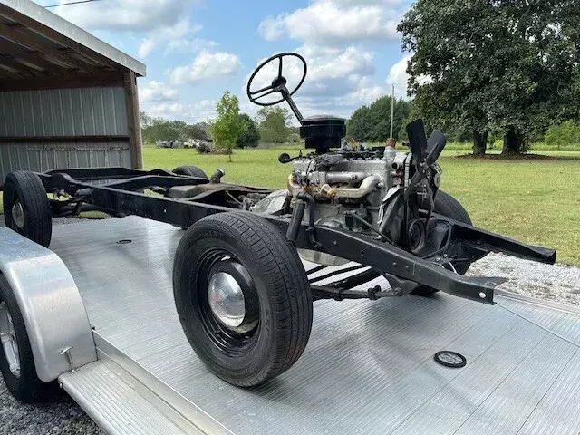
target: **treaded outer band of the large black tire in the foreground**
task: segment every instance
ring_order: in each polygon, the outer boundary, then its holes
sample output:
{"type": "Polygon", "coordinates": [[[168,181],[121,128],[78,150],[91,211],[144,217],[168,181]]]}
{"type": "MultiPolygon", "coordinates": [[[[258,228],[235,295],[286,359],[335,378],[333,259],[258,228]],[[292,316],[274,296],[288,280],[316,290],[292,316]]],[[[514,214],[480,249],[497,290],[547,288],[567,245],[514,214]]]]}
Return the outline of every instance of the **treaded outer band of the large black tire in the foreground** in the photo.
{"type": "MultiPolygon", "coordinates": [[[[259,270],[266,276],[272,292],[268,295],[268,300],[271,304],[271,313],[276,318],[273,325],[275,345],[267,362],[249,379],[226,378],[216,372],[227,382],[252,387],[288,370],[304,352],[312,329],[312,294],[304,266],[295,247],[264,218],[237,211],[211,215],[189,228],[181,243],[190,246],[195,241],[194,235],[203,237],[223,232],[252,247],[259,270]]],[[[176,255],[176,268],[180,261],[179,257],[182,256],[180,253],[186,251],[185,247],[181,247],[181,243],[176,255]]],[[[176,272],[174,269],[174,283],[176,272]]],[[[174,287],[174,291],[177,292],[178,289],[174,287]]],[[[187,328],[185,329],[186,335],[194,333],[188,333],[187,328]]],[[[211,370],[211,367],[209,368],[211,370]]]]}

